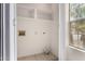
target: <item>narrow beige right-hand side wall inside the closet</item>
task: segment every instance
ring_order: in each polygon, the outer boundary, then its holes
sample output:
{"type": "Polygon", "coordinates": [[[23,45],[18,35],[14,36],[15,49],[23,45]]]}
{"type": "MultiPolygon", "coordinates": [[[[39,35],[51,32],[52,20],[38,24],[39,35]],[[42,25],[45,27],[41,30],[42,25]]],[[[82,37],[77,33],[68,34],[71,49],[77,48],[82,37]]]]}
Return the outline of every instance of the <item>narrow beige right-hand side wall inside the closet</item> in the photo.
{"type": "Polygon", "coordinates": [[[53,4],[54,11],[54,22],[53,22],[53,35],[52,35],[52,52],[54,55],[58,56],[58,39],[59,39],[59,5],[53,4]]]}

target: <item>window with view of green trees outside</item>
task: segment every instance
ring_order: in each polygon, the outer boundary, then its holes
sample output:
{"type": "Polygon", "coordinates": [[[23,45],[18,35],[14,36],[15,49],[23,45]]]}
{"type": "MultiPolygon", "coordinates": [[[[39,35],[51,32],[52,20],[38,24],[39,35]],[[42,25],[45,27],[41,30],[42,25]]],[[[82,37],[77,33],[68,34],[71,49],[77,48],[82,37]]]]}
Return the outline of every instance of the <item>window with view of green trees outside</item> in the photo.
{"type": "Polygon", "coordinates": [[[85,50],[85,4],[70,4],[70,46],[85,50]]]}

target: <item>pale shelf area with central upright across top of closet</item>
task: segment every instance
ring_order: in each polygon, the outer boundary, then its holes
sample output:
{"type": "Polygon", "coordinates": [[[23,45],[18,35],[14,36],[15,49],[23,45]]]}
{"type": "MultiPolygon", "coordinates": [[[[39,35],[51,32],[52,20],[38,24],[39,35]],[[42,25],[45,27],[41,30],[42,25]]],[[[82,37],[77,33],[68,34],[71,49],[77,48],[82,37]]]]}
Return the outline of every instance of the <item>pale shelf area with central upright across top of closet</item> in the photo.
{"type": "Polygon", "coordinates": [[[52,4],[17,4],[17,16],[26,18],[39,18],[53,21],[52,4]]]}

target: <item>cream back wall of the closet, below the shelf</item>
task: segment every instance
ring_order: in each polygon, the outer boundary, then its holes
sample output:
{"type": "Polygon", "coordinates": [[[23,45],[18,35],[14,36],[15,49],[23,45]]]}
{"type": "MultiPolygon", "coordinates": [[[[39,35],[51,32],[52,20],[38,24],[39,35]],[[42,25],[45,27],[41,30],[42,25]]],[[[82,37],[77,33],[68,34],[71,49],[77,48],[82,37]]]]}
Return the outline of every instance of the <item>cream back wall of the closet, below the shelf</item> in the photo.
{"type": "Polygon", "coordinates": [[[52,34],[52,22],[39,20],[25,20],[18,17],[17,29],[26,30],[26,36],[17,38],[18,56],[42,53],[45,46],[49,46],[52,34]],[[43,31],[46,34],[43,35],[43,31]]]}

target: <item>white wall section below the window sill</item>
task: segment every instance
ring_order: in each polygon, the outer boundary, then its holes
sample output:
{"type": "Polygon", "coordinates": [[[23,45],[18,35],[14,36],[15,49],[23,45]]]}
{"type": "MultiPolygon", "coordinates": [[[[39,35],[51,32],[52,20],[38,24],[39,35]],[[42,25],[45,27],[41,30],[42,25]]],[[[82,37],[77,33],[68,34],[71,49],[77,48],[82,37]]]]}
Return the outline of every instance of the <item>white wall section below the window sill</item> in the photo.
{"type": "Polygon", "coordinates": [[[85,52],[69,48],[68,61],[85,61],[85,52]]]}

